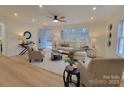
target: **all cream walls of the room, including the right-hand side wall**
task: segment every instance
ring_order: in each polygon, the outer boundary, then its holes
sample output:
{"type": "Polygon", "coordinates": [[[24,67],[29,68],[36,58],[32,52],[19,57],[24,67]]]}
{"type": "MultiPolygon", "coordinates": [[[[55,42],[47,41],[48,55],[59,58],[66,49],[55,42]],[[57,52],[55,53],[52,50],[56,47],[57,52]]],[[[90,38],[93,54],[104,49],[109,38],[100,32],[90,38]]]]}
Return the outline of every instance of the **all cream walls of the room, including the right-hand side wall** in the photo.
{"type": "MultiPolygon", "coordinates": [[[[96,38],[95,46],[97,49],[98,56],[104,56],[104,57],[118,57],[116,55],[116,45],[117,45],[117,24],[120,19],[122,19],[122,15],[114,16],[113,19],[108,22],[91,22],[91,23],[81,23],[81,24],[72,24],[72,25],[66,25],[66,26],[54,26],[54,27],[48,27],[52,29],[52,32],[55,33],[54,36],[57,37],[57,40],[60,40],[60,31],[63,28],[79,28],[79,27],[86,27],[90,30],[90,38],[96,38]],[[107,25],[112,23],[113,29],[112,29],[112,45],[111,47],[107,46],[107,25]]],[[[24,31],[30,31],[32,33],[31,40],[34,41],[36,44],[38,44],[38,31],[39,29],[42,29],[38,25],[35,25],[35,23],[27,24],[23,23],[14,19],[2,19],[0,20],[1,23],[5,24],[5,30],[6,30],[6,43],[7,43],[7,55],[13,56],[20,53],[21,49],[18,46],[19,40],[18,40],[18,33],[24,32],[24,31]]]]}

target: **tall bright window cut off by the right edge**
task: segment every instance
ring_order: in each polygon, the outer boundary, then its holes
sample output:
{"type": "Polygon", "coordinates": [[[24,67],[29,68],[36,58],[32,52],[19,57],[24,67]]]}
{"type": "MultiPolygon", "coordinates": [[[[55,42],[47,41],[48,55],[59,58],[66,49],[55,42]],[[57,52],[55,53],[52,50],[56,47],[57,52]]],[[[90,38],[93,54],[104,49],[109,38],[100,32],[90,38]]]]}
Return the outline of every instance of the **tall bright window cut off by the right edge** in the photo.
{"type": "Polygon", "coordinates": [[[124,57],[124,20],[118,26],[118,54],[124,57]]]}

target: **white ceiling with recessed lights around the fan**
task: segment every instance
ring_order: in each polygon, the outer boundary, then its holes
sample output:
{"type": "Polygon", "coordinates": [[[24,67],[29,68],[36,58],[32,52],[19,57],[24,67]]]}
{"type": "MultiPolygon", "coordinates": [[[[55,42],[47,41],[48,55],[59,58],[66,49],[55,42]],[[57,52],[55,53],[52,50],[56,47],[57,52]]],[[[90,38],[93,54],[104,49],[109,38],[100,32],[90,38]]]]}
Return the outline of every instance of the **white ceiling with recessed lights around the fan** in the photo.
{"type": "Polygon", "coordinates": [[[43,25],[57,25],[57,24],[74,24],[74,23],[86,23],[91,21],[107,21],[112,15],[118,13],[119,9],[124,6],[119,5],[97,5],[96,11],[92,10],[95,5],[44,5],[40,8],[38,5],[1,5],[0,17],[11,18],[25,23],[33,23],[32,19],[35,18],[35,24],[43,25]],[[18,13],[15,17],[13,13],[18,13]],[[65,16],[66,23],[53,23],[51,19],[46,16],[65,16]],[[93,16],[94,20],[90,17],[93,16]]]}

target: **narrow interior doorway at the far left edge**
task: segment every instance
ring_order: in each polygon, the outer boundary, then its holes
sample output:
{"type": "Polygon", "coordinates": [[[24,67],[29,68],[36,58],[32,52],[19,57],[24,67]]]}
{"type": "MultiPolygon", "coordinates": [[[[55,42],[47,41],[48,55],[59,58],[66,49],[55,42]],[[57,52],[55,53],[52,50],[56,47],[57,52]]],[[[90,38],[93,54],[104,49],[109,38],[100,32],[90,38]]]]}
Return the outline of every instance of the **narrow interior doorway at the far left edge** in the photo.
{"type": "Polygon", "coordinates": [[[5,26],[0,23],[0,54],[6,55],[5,26]]]}

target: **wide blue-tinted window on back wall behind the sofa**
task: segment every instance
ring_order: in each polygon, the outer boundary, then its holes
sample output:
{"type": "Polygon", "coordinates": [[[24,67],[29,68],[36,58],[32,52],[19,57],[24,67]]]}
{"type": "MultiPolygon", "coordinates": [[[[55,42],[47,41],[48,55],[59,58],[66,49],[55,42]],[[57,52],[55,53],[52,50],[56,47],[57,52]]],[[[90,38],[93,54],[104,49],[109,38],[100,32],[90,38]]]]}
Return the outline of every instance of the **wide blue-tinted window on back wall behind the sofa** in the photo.
{"type": "Polygon", "coordinates": [[[88,30],[86,28],[63,29],[61,31],[62,41],[88,43],[88,30]]]}

